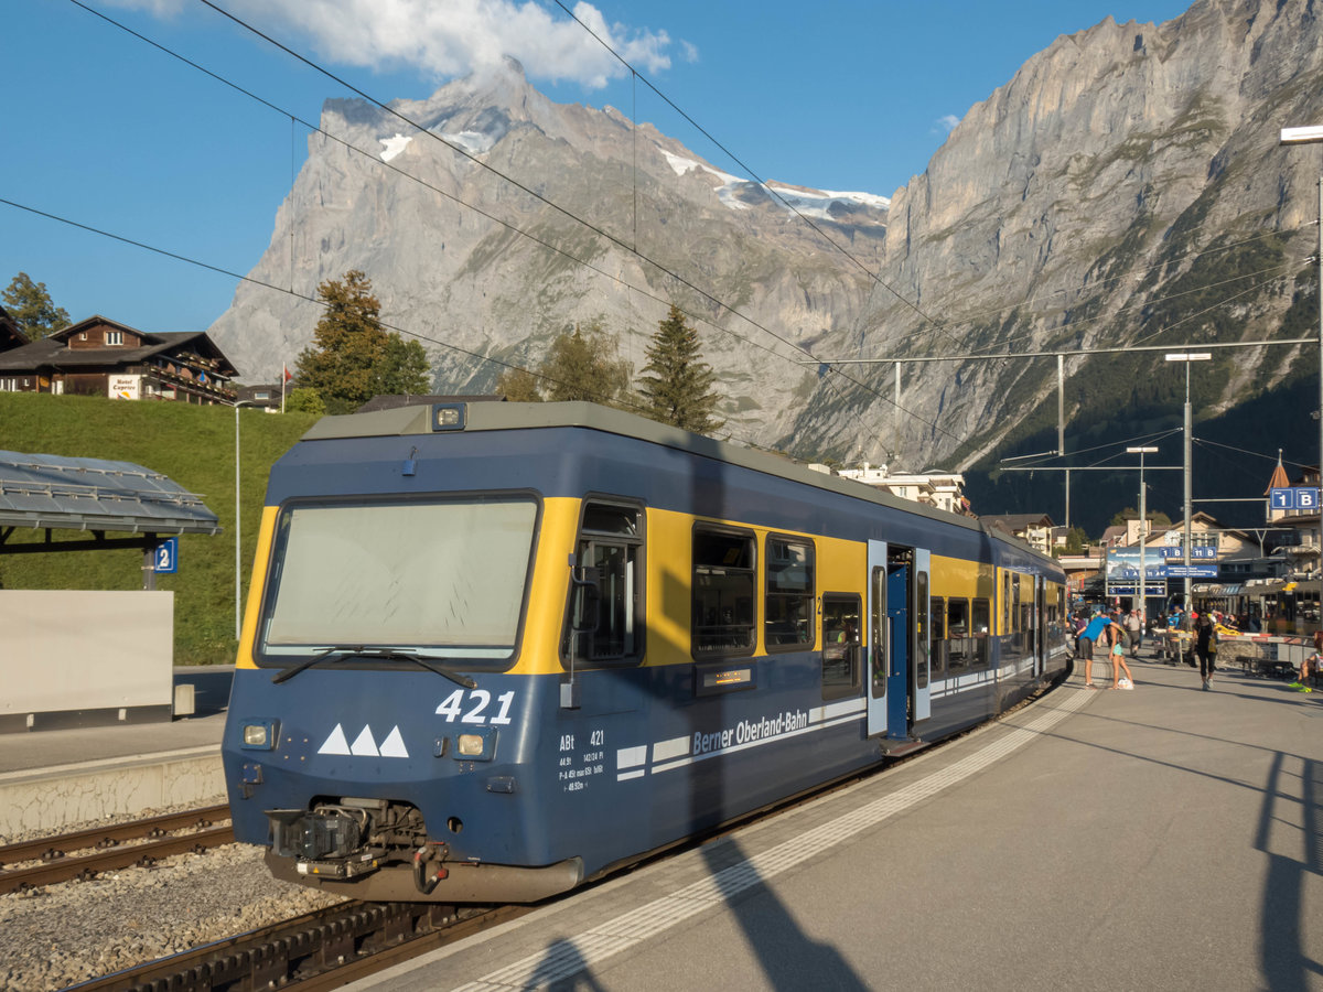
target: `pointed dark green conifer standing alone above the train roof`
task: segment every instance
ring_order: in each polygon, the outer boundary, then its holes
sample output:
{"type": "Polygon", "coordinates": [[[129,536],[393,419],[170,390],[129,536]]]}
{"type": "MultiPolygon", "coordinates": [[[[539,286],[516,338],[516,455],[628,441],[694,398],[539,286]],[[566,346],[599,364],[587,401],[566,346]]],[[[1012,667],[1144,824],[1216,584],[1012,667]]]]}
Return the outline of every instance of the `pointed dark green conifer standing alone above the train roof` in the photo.
{"type": "Polygon", "coordinates": [[[675,304],[658,323],[646,352],[648,364],[639,377],[639,393],[648,417],[697,434],[710,434],[722,421],[713,419],[720,395],[712,392],[716,373],[703,361],[699,332],[684,321],[675,304]]]}

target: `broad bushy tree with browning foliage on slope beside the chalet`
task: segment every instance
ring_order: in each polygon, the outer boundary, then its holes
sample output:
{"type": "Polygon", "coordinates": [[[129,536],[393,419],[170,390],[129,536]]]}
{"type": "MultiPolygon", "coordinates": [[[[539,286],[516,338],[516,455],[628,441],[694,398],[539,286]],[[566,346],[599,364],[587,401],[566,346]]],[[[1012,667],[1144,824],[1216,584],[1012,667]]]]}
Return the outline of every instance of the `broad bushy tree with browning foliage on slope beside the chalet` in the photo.
{"type": "Polygon", "coordinates": [[[352,413],[377,394],[429,390],[426,352],[381,327],[381,303],[364,272],[328,279],[318,286],[318,299],[325,312],[312,347],[299,353],[295,377],[318,392],[327,413],[352,413]]]}

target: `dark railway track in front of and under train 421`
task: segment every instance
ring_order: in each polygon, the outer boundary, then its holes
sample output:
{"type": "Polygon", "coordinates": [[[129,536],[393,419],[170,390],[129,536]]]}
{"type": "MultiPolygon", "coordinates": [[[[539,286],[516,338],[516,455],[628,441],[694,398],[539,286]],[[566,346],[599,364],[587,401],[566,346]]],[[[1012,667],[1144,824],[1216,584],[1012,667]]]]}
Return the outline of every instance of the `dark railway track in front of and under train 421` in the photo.
{"type": "Polygon", "coordinates": [[[93,979],[66,992],[340,988],[532,911],[352,902],[93,979]]]}

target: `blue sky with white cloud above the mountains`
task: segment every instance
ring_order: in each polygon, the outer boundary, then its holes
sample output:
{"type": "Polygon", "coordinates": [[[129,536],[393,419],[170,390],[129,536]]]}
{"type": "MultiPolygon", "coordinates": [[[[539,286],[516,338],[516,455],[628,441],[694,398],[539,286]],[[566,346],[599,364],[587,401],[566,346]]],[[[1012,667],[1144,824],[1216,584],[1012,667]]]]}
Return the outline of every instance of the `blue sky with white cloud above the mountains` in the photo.
{"type": "MultiPolygon", "coordinates": [[[[5,5],[0,200],[247,272],[321,102],[349,95],[197,0],[79,0],[277,104],[273,111],[71,0],[5,5]]],[[[216,0],[365,93],[421,98],[513,54],[558,102],[611,104],[744,173],[554,3],[216,0]]],[[[890,196],[950,122],[1064,33],[1172,0],[598,0],[570,4],[762,179],[890,196]]],[[[25,271],[73,320],[206,329],[235,279],[0,204],[0,287],[25,271]]]]}

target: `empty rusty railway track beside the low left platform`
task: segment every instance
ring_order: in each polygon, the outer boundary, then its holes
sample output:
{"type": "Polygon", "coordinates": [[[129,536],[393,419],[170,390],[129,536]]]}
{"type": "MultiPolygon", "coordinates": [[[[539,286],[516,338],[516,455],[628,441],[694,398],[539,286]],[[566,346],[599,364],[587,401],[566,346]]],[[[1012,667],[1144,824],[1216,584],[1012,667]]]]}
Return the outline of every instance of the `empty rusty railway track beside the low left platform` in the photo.
{"type": "Polygon", "coordinates": [[[172,854],[232,844],[229,819],[229,807],[212,806],[7,844],[0,847],[0,893],[93,878],[101,872],[148,866],[172,854]],[[222,821],[225,825],[217,825],[222,821]]]}

